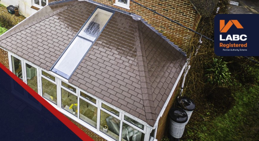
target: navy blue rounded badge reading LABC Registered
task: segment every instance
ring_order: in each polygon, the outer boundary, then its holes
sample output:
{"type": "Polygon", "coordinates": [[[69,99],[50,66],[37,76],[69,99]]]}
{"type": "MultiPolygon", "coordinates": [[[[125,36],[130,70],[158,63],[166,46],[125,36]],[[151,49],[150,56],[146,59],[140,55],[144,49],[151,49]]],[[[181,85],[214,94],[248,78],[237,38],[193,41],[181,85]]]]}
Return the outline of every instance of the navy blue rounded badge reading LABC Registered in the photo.
{"type": "Polygon", "coordinates": [[[218,56],[259,56],[259,14],[218,14],[214,51],[218,56]]]}

